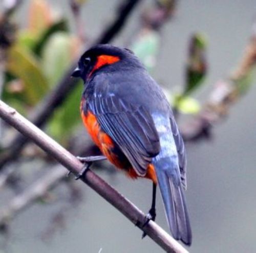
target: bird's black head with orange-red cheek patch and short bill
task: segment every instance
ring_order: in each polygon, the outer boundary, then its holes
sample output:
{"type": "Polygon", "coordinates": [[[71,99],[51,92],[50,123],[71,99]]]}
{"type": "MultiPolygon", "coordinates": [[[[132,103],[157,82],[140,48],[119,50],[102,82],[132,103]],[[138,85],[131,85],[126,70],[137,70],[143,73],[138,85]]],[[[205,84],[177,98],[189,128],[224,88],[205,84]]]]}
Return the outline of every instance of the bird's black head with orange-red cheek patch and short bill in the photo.
{"type": "Polygon", "coordinates": [[[99,44],[80,57],[72,77],[80,77],[86,82],[88,78],[100,70],[115,71],[129,66],[142,66],[132,51],[110,44],[99,44]]]}

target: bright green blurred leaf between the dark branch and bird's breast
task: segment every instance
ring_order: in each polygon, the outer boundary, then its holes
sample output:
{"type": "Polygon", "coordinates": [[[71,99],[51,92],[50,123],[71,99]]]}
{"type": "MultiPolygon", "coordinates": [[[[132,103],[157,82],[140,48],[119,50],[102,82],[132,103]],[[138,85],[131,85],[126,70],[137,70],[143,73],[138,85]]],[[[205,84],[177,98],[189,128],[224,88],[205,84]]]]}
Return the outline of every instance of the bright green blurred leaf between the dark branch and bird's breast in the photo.
{"type": "Polygon", "coordinates": [[[81,123],[79,108],[82,87],[82,82],[76,86],[47,126],[48,133],[62,145],[67,145],[71,132],[81,123]]]}

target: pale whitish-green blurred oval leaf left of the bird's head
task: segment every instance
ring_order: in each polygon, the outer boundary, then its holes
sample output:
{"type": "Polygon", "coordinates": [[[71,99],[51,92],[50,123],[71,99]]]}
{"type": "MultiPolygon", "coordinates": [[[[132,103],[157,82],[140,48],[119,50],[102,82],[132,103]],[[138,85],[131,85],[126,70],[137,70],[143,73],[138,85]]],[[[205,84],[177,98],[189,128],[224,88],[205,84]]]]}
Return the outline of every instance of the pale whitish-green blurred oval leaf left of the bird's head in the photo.
{"type": "MultiPolygon", "coordinates": [[[[54,86],[72,63],[76,40],[64,32],[53,34],[42,51],[42,70],[50,86],[54,86]]],[[[79,50],[79,47],[76,48],[79,50]]]]}

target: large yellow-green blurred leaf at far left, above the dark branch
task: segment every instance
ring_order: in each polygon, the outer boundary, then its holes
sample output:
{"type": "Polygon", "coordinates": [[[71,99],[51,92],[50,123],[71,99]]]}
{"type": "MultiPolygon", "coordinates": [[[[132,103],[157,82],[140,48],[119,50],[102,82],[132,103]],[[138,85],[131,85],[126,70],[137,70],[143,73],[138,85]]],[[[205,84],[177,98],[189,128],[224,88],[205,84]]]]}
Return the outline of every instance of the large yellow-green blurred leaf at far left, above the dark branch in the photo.
{"type": "Polygon", "coordinates": [[[8,52],[7,71],[23,80],[25,101],[35,105],[48,90],[45,76],[35,57],[26,49],[15,45],[8,52]]]}

